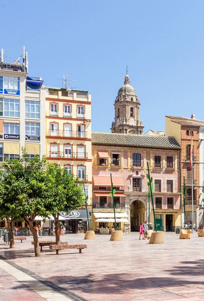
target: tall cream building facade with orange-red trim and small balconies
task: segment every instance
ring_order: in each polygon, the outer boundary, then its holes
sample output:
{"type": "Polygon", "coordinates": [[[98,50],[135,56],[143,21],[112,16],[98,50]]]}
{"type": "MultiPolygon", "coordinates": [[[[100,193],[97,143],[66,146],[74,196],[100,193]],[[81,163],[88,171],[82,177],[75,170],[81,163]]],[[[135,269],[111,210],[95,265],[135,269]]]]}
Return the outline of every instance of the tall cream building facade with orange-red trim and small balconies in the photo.
{"type": "MultiPolygon", "coordinates": [[[[92,199],[91,95],[46,87],[46,157],[85,182],[92,199]]],[[[85,205],[84,205],[85,206],[85,205]]]]}

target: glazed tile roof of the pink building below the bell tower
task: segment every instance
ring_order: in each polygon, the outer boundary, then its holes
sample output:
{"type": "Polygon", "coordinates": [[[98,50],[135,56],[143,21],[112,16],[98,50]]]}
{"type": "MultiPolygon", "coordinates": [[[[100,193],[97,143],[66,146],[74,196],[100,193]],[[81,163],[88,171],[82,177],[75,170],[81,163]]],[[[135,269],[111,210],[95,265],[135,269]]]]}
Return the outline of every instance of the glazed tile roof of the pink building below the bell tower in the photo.
{"type": "Polygon", "coordinates": [[[151,147],[180,149],[175,138],[167,136],[130,135],[118,133],[91,133],[93,145],[112,145],[123,147],[151,147]]]}

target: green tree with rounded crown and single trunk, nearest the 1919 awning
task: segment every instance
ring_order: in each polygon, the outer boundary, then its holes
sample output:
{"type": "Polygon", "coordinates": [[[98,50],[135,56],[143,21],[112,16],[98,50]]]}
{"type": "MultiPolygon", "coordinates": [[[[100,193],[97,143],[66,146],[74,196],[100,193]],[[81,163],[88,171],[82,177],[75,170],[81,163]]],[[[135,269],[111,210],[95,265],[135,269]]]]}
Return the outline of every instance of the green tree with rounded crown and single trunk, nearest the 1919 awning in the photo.
{"type": "Polygon", "coordinates": [[[55,219],[56,244],[60,243],[59,216],[60,213],[69,213],[85,202],[82,183],[58,165],[47,164],[45,172],[46,195],[49,198],[48,211],[55,219]]]}

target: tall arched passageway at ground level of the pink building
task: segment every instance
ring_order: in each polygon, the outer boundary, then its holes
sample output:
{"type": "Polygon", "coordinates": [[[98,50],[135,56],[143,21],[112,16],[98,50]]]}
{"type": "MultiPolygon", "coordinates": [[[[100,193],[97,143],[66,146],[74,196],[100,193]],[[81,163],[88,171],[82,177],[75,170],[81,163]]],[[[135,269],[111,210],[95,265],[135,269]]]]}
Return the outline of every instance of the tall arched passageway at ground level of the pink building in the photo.
{"type": "Polygon", "coordinates": [[[140,197],[130,200],[130,224],[131,231],[139,231],[141,222],[145,222],[147,216],[146,201],[140,197]]]}

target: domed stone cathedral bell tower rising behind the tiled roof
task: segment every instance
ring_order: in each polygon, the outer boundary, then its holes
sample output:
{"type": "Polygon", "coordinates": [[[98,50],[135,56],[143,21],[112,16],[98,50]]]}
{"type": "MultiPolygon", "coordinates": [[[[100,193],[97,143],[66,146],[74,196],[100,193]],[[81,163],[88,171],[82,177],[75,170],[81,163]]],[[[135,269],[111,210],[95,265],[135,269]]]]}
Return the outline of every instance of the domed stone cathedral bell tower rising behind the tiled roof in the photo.
{"type": "Polygon", "coordinates": [[[115,121],[112,122],[111,132],[142,135],[144,126],[139,119],[140,101],[130,85],[128,74],[125,75],[124,85],[118,91],[114,106],[115,121]]]}

